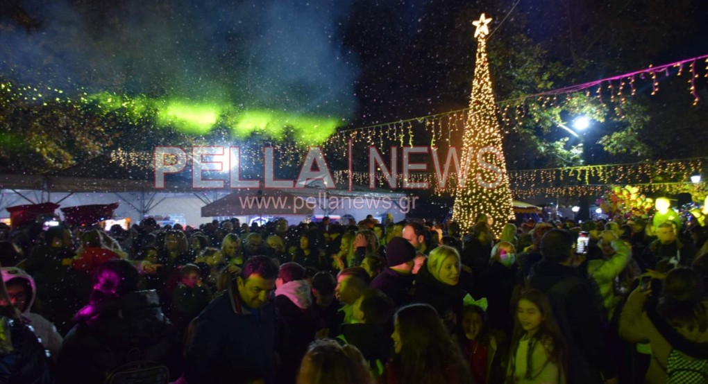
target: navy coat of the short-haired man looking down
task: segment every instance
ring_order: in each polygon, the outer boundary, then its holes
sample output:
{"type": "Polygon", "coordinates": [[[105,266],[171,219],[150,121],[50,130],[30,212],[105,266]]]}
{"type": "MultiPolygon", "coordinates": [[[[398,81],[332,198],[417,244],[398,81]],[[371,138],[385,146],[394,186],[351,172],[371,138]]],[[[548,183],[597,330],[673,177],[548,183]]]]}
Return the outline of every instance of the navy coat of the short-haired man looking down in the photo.
{"type": "Polygon", "coordinates": [[[189,384],[249,383],[275,373],[275,306],[258,310],[241,304],[236,282],[200,313],[187,351],[189,384]]]}

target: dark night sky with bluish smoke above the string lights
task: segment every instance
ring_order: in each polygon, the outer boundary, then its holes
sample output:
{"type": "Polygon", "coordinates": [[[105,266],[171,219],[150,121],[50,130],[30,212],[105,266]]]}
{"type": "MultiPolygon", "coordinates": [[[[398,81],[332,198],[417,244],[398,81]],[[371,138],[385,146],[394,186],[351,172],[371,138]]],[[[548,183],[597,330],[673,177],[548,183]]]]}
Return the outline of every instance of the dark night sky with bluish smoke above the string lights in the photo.
{"type": "MultiPolygon", "coordinates": [[[[0,75],[69,97],[180,98],[362,127],[467,107],[471,22],[483,12],[494,18],[491,51],[514,50],[523,33],[549,61],[583,62],[554,88],[708,53],[706,1],[601,3],[4,1],[0,75]]],[[[504,100],[515,69],[491,66],[504,100]]]]}

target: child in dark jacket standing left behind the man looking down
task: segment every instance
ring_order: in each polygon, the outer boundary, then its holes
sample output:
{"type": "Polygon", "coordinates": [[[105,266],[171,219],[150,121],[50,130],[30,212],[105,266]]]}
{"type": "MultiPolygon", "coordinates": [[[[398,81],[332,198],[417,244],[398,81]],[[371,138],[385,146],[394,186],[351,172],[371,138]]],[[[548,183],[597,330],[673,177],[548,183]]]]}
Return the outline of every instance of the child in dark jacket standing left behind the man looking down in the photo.
{"type": "Polygon", "coordinates": [[[183,333],[190,321],[209,304],[211,292],[202,283],[202,272],[195,264],[180,269],[181,281],[172,293],[170,320],[183,333]]]}

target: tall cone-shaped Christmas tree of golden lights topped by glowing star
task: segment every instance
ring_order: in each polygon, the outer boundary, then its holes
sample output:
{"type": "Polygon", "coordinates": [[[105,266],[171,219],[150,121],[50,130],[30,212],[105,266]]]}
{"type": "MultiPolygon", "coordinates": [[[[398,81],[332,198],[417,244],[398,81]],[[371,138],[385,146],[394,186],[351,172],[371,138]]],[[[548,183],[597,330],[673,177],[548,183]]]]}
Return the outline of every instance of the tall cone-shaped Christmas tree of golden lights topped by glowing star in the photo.
{"type": "Polygon", "coordinates": [[[501,234],[501,228],[508,220],[514,219],[511,189],[506,173],[506,160],[501,147],[501,127],[496,110],[494,93],[489,76],[489,62],[486,55],[486,36],[491,18],[482,13],[476,26],[476,64],[472,96],[469,100],[469,114],[462,136],[462,153],[472,149],[472,159],[467,169],[467,179],[460,180],[455,192],[452,218],[462,228],[474,226],[481,214],[492,220],[492,230],[501,234]]]}

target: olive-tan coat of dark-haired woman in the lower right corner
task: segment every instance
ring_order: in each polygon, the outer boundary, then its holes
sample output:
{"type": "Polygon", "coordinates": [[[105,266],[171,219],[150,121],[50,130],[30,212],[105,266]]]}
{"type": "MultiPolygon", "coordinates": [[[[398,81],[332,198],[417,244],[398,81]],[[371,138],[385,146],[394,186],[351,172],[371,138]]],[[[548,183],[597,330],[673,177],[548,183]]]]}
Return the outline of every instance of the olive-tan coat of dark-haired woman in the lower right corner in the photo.
{"type": "MultiPolygon", "coordinates": [[[[673,349],[666,338],[656,329],[644,306],[646,296],[639,289],[635,289],[629,294],[627,303],[622,308],[622,315],[619,315],[619,336],[628,342],[646,342],[649,340],[651,347],[651,363],[646,371],[644,382],[648,384],[666,383],[666,361],[673,349]]],[[[705,308],[708,308],[708,301],[704,301],[705,308]]],[[[708,316],[708,309],[706,310],[708,316]]],[[[708,330],[700,332],[697,328],[688,330],[686,328],[676,328],[676,331],[683,336],[689,344],[704,351],[701,359],[708,359],[708,330]],[[701,347],[699,343],[703,343],[701,347]]]]}

